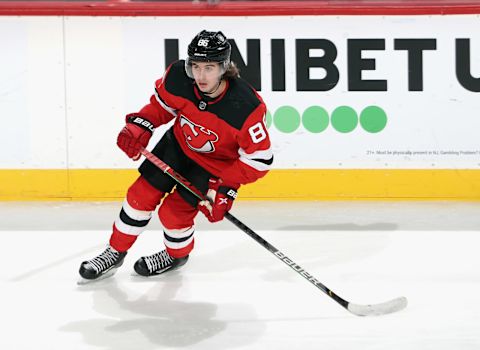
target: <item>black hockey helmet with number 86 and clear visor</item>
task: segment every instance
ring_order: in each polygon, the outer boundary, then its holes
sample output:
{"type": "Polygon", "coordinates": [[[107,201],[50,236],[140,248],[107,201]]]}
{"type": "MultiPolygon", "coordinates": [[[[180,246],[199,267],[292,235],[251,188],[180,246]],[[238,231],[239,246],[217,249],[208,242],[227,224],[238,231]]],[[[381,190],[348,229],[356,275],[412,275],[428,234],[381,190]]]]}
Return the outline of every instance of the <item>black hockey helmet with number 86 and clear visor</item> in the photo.
{"type": "MultiPolygon", "coordinates": [[[[192,61],[218,62],[223,73],[230,63],[232,46],[222,32],[209,32],[202,30],[188,45],[188,57],[185,60],[185,71],[193,79],[192,61]]],[[[222,73],[222,74],[223,74],[222,73]]]]}

